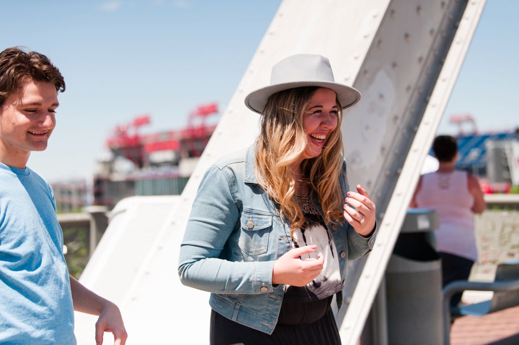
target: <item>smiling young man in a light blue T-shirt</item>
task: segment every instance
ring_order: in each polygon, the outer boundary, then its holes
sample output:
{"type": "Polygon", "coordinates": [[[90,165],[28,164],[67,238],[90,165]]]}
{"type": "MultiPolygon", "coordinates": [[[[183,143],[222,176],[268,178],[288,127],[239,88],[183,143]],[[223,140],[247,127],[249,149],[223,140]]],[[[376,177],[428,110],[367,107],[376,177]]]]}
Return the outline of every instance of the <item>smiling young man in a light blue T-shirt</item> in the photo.
{"type": "Polygon", "coordinates": [[[104,332],[124,345],[117,306],[71,277],[49,184],[26,167],[56,126],[65,82],[43,54],[0,53],[0,343],[75,344],[74,310],[99,315],[104,332]]]}

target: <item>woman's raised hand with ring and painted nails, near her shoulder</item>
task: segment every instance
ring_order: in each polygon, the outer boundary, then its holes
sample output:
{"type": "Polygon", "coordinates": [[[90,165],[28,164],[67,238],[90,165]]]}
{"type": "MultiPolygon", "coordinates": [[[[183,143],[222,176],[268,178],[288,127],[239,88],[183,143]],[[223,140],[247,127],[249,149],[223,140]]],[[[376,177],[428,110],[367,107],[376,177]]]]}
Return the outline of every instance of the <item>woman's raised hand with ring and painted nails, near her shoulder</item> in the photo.
{"type": "Polygon", "coordinates": [[[375,204],[361,185],[357,185],[357,191],[349,191],[344,199],[344,219],[361,236],[366,237],[375,228],[375,204]]]}

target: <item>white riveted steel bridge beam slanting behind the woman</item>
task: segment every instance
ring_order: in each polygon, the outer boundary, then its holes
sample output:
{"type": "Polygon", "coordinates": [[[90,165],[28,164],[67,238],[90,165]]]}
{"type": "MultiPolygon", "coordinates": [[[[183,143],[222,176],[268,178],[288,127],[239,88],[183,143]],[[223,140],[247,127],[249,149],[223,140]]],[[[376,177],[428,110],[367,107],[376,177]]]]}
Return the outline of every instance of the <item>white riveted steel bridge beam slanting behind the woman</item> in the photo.
{"type": "MultiPolygon", "coordinates": [[[[336,81],[362,93],[344,116],[345,159],[350,185],[363,185],[377,204],[375,248],[350,265],[337,317],[343,344],[356,344],[484,4],[284,0],[183,194],[118,205],[81,276],[118,304],[127,343],[208,343],[209,295],[183,286],[176,271],[198,184],[217,158],[254,141],[259,117],[243,100],[268,84],[271,66],[291,54],[319,53],[330,59],[336,81]]],[[[80,344],[93,342],[94,323],[93,316],[76,314],[80,344]]]]}

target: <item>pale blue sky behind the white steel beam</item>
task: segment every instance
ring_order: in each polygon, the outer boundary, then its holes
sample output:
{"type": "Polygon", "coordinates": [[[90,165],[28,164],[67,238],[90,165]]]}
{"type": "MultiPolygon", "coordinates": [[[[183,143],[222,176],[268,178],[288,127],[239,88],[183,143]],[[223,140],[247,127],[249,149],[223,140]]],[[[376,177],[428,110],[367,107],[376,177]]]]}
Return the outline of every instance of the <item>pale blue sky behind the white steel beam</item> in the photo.
{"type": "MultiPolygon", "coordinates": [[[[180,129],[197,105],[221,112],[280,0],[0,0],[0,48],[46,54],[65,77],[58,125],[29,167],[49,181],[85,177],[119,123],[149,114],[143,132],[180,129]]],[[[439,132],[451,114],[480,131],[519,126],[519,2],[487,0],[439,132]]]]}

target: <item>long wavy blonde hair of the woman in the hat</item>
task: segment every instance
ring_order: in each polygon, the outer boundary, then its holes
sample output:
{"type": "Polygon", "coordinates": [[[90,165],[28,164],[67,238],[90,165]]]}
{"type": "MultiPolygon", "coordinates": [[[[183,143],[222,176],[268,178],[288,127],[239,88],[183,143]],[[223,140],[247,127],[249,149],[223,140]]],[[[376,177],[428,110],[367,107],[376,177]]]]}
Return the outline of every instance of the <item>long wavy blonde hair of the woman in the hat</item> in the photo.
{"type": "MultiPolygon", "coordinates": [[[[294,199],[295,180],[291,169],[307,146],[303,115],[318,87],[302,87],[270,96],[262,112],[261,132],[256,140],[256,177],[269,197],[280,206],[294,229],[305,223],[305,216],[294,199]]],[[[342,107],[338,100],[337,128],[331,133],[321,154],[302,162],[303,182],[317,192],[326,223],[342,223],[343,141],[340,133],[342,107]]]]}

